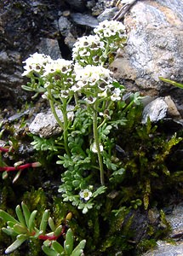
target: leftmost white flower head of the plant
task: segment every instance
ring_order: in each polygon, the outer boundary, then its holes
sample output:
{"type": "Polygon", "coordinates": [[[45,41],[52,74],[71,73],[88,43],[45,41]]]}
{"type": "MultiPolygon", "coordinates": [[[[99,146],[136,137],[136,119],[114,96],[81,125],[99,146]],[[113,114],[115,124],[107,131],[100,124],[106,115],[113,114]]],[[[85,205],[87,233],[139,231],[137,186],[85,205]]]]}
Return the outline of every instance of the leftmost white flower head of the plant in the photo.
{"type": "Polygon", "coordinates": [[[26,70],[22,73],[22,76],[26,76],[32,71],[40,73],[49,61],[51,61],[51,57],[49,55],[38,54],[37,52],[30,55],[26,61],[23,61],[23,63],[26,63],[26,66],[24,66],[24,69],[26,70]]]}

